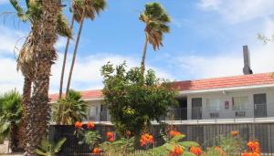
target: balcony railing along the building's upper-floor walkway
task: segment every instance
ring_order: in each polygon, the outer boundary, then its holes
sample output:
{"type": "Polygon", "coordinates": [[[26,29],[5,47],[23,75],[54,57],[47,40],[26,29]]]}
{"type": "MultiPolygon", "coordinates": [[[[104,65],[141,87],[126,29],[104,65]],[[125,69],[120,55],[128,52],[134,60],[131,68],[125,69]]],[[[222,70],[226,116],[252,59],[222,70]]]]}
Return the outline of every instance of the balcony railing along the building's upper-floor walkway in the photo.
{"type": "MultiPolygon", "coordinates": [[[[253,104],[249,105],[248,108],[180,108],[180,109],[169,109],[167,116],[162,120],[232,120],[232,121],[245,121],[245,120],[260,120],[259,118],[273,117],[274,120],[274,104],[272,114],[267,113],[267,107],[271,105],[265,104],[253,104]],[[252,107],[253,106],[253,107],[252,107]]],[[[272,109],[272,108],[270,108],[272,109]]],[[[90,114],[89,120],[94,121],[111,121],[111,115],[109,111],[101,111],[97,116],[90,114]]]]}

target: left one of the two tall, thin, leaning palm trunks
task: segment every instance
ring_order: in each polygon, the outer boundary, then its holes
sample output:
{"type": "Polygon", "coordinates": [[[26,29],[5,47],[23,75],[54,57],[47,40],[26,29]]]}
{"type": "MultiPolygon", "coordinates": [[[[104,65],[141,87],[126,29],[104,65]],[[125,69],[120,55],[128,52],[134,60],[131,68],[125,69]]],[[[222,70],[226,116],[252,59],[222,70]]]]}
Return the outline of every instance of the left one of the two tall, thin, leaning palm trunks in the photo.
{"type": "MultiPolygon", "coordinates": [[[[73,29],[73,25],[74,25],[74,16],[72,15],[70,30],[73,29]]],[[[64,53],[64,60],[63,60],[63,66],[62,66],[61,79],[60,79],[59,99],[62,98],[62,93],[63,93],[63,82],[64,82],[64,74],[65,74],[66,62],[67,62],[69,40],[70,40],[70,38],[68,37],[67,38],[66,48],[65,48],[65,53],[64,53]]]]}

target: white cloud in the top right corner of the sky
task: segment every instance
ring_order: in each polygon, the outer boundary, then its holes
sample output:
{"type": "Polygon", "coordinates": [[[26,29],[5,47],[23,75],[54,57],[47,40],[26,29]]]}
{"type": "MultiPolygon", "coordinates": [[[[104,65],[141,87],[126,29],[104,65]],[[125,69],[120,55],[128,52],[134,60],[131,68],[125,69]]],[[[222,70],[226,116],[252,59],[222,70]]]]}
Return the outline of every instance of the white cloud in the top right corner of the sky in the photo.
{"type": "Polygon", "coordinates": [[[200,0],[198,7],[217,11],[231,23],[274,14],[273,0],[200,0]]]}

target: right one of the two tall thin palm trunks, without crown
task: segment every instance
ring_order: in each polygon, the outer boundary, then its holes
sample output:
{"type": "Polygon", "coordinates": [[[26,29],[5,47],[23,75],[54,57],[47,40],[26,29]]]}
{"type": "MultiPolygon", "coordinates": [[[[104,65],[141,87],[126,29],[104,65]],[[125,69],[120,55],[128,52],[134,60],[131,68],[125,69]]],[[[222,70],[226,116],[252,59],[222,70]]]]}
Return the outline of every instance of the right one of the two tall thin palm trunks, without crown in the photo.
{"type": "Polygon", "coordinates": [[[80,26],[79,26],[79,31],[78,31],[78,35],[77,35],[75,47],[74,47],[74,52],[73,52],[71,67],[70,67],[70,70],[69,70],[68,85],[67,85],[67,90],[66,90],[66,97],[68,97],[68,91],[69,91],[69,88],[70,88],[70,81],[71,81],[72,72],[73,72],[73,68],[74,68],[74,64],[75,64],[75,59],[76,59],[76,54],[77,54],[77,50],[78,50],[78,46],[79,46],[79,38],[81,36],[81,31],[82,31],[82,28],[83,28],[83,25],[84,25],[85,14],[86,14],[86,9],[84,8],[83,14],[82,14],[81,20],[80,20],[80,26]]]}

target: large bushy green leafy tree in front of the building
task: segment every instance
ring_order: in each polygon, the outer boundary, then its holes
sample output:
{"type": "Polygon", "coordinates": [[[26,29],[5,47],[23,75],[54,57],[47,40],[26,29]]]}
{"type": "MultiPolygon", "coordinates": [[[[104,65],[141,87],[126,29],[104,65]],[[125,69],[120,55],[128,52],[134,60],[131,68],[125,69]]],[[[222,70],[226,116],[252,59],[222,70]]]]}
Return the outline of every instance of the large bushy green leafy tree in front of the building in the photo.
{"type": "Polygon", "coordinates": [[[121,135],[130,130],[139,135],[151,120],[160,121],[169,107],[177,104],[176,91],[170,83],[156,78],[153,70],[142,76],[140,68],[126,70],[108,63],[101,68],[104,102],[110,109],[111,122],[121,135]]]}

